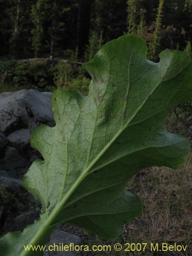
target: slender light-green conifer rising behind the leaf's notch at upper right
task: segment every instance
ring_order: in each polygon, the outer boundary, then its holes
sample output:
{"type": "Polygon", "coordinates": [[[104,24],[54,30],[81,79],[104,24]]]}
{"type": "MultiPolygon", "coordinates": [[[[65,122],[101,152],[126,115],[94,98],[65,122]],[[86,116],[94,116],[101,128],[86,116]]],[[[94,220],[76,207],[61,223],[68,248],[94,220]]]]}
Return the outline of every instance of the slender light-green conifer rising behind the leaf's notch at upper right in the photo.
{"type": "Polygon", "coordinates": [[[163,19],[163,4],[164,0],[159,1],[159,7],[157,9],[157,16],[155,22],[155,31],[152,35],[152,41],[148,48],[148,57],[152,60],[156,60],[156,56],[161,50],[161,35],[162,35],[162,19],[163,19]]]}

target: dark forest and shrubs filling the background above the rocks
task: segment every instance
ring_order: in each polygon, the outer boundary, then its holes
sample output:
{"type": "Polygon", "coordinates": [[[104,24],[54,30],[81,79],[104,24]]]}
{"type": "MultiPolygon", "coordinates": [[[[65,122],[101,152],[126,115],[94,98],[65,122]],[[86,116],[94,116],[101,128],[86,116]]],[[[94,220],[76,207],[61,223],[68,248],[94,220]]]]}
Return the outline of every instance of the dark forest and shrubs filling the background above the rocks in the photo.
{"type": "Polygon", "coordinates": [[[0,92],[77,88],[81,63],[106,42],[138,34],[148,59],[168,48],[191,57],[191,0],[0,0],[0,92]]]}

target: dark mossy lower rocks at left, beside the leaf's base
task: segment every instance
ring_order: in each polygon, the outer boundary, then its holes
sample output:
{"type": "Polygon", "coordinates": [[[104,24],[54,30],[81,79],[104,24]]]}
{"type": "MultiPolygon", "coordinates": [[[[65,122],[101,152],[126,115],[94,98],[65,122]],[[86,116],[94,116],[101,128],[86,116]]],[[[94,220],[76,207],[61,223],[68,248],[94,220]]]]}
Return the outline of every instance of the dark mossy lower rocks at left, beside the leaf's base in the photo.
{"type": "Polygon", "coordinates": [[[24,188],[21,180],[10,177],[2,170],[0,171],[0,189],[3,203],[3,208],[0,204],[3,233],[22,230],[38,219],[40,208],[34,197],[24,188]]]}

